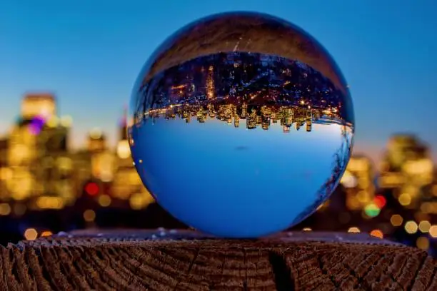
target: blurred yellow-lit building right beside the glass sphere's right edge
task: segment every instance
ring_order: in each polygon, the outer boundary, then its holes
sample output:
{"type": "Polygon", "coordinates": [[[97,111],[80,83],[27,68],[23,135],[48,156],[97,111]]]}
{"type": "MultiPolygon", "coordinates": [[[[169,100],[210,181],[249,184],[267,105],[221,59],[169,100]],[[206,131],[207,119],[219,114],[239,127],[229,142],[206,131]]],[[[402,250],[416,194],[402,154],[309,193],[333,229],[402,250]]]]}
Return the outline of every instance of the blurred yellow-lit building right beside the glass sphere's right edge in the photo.
{"type": "Polygon", "coordinates": [[[341,184],[346,188],[346,207],[349,210],[361,210],[373,201],[373,174],[368,158],[359,155],[351,157],[341,178],[341,184]]]}

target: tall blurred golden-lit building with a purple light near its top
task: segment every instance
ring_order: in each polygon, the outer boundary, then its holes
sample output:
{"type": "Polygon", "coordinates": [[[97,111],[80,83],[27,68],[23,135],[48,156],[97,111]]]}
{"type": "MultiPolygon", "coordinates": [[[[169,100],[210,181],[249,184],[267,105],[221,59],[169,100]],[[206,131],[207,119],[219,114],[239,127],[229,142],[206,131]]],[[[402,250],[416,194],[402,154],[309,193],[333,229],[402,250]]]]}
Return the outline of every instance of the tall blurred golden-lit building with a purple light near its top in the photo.
{"type": "Polygon", "coordinates": [[[71,159],[67,137],[71,121],[56,116],[54,96],[29,94],[21,103],[21,116],[11,129],[7,150],[11,198],[39,195],[72,200],[71,159]]]}

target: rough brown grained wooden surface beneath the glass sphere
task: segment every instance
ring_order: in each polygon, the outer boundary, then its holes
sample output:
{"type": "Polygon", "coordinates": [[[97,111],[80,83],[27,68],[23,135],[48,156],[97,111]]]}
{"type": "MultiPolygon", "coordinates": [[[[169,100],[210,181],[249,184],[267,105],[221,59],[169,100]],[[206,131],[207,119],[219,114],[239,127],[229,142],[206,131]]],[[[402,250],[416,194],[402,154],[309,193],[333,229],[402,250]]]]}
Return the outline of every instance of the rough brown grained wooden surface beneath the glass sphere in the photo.
{"type": "Polygon", "coordinates": [[[88,230],[0,250],[0,290],[437,290],[426,252],[363,234],[88,230]]]}

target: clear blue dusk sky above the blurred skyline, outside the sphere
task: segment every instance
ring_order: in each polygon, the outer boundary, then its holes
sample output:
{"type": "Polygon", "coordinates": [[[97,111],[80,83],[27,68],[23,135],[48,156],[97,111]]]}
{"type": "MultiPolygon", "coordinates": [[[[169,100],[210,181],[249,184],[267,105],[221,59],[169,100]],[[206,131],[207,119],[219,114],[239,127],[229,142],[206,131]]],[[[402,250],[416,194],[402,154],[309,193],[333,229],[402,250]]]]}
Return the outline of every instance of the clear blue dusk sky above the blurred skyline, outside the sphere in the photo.
{"type": "Polygon", "coordinates": [[[202,16],[246,10],[301,26],[351,86],[355,153],[377,158],[391,134],[413,132],[437,153],[435,0],[6,0],[0,4],[0,136],[26,91],[52,91],[74,118],[73,145],[116,126],[146,59],[202,16]]]}

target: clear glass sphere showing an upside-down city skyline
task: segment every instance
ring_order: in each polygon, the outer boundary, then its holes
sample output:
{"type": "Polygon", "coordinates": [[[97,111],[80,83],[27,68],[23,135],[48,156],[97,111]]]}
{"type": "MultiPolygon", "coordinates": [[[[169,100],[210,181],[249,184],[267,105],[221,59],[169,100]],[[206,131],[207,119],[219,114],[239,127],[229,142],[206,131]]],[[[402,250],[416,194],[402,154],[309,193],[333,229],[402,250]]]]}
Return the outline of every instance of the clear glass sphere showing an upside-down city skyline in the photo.
{"type": "Polygon", "coordinates": [[[182,222],[227,238],[284,230],[333,192],[353,141],[348,86],[297,26],[266,14],[200,19],[169,37],[131,96],[134,164],[182,222]]]}

